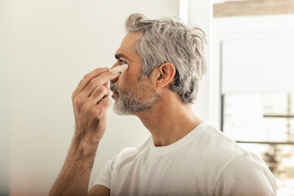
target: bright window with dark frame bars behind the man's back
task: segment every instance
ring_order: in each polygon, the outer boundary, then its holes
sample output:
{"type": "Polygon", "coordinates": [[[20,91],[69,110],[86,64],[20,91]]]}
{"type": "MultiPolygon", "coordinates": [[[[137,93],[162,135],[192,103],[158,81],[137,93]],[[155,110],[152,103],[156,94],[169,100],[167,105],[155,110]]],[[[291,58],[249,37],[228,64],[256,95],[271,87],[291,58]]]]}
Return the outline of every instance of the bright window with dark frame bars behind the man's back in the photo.
{"type": "Polygon", "coordinates": [[[215,124],[294,195],[294,15],[214,19],[215,124]],[[218,99],[217,99],[218,98],[218,99]]]}

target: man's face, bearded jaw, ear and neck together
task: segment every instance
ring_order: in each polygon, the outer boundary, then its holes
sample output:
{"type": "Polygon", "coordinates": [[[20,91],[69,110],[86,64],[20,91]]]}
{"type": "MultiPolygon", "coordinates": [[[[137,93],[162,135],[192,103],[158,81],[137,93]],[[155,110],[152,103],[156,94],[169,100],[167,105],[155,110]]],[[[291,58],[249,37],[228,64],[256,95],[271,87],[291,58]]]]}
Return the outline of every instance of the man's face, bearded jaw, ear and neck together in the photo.
{"type": "Polygon", "coordinates": [[[190,133],[202,120],[171,90],[175,75],[172,63],[159,65],[150,76],[142,76],[142,59],[134,52],[137,40],[138,34],[128,33],[116,52],[113,67],[126,63],[129,68],[111,80],[111,90],[115,92],[113,108],[118,114],[139,117],[156,147],[168,146],[190,133]]]}

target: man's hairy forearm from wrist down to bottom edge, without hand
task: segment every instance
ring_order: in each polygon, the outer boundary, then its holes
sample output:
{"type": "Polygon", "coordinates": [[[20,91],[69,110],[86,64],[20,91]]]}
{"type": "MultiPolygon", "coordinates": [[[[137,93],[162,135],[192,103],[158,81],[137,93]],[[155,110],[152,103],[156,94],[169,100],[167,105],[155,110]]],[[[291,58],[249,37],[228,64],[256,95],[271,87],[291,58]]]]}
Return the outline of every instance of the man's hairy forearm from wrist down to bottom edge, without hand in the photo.
{"type": "Polygon", "coordinates": [[[75,136],[49,196],[86,196],[97,148],[98,142],[75,136]]]}

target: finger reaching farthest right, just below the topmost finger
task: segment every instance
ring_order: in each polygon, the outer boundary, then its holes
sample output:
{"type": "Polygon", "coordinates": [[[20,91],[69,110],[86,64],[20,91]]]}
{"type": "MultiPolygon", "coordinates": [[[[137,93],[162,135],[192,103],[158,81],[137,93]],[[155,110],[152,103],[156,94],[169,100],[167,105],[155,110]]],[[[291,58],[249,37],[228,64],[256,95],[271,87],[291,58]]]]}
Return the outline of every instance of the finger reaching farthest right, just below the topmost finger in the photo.
{"type": "Polygon", "coordinates": [[[118,73],[112,73],[112,72],[106,72],[106,73],[102,73],[98,75],[97,77],[92,79],[89,82],[89,84],[85,87],[85,89],[82,91],[82,94],[83,94],[82,97],[84,98],[90,97],[97,86],[103,86],[109,80],[116,78],[118,75],[119,75],[118,73]]]}

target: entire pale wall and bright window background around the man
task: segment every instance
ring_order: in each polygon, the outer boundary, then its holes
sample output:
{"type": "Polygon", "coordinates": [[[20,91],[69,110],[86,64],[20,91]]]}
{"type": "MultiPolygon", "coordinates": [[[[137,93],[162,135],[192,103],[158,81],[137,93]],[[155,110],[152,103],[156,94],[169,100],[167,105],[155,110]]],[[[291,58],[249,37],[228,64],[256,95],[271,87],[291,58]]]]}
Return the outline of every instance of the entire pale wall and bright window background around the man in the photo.
{"type": "MultiPolygon", "coordinates": [[[[193,109],[268,164],[278,196],[294,196],[294,0],[0,1],[0,196],[48,195],[73,137],[71,94],[114,64],[134,12],[206,32],[209,69],[193,109]]],[[[149,136],[109,109],[89,187],[149,136]]]]}

